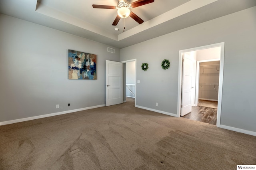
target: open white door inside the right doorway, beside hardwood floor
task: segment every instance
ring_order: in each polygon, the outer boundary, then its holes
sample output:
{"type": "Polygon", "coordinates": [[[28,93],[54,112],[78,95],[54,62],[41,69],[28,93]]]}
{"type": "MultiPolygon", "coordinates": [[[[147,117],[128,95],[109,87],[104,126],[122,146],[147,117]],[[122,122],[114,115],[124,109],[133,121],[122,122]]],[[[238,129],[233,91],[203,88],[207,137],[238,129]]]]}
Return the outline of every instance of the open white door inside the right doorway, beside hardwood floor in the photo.
{"type": "Polygon", "coordinates": [[[191,89],[192,87],[192,74],[193,74],[193,60],[186,53],[183,58],[182,69],[182,98],[181,98],[181,114],[184,116],[191,112],[191,89]]]}

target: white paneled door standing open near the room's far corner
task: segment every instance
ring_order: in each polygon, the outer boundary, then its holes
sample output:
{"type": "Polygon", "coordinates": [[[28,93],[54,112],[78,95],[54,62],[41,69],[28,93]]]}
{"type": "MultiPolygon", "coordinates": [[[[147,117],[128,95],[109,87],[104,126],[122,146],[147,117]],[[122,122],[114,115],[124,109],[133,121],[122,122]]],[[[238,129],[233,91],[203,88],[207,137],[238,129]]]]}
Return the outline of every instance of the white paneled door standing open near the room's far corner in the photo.
{"type": "Polygon", "coordinates": [[[122,103],[122,63],[106,60],[106,106],[122,103]]]}

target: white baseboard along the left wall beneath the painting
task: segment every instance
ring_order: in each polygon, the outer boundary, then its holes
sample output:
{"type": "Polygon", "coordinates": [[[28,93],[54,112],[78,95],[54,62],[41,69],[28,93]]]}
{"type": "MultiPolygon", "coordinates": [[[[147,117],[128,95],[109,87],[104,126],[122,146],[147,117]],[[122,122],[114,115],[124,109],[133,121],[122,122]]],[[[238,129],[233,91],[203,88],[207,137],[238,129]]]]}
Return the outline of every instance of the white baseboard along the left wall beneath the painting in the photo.
{"type": "Polygon", "coordinates": [[[84,110],[94,109],[94,108],[104,107],[104,106],[106,106],[106,105],[98,105],[98,106],[92,106],[92,107],[85,107],[85,108],[74,109],[74,110],[70,110],[70,111],[63,111],[63,112],[57,112],[57,113],[50,113],[50,114],[46,114],[46,115],[40,115],[40,116],[27,117],[27,118],[16,119],[16,120],[11,120],[11,121],[5,121],[5,122],[0,122],[0,126],[12,124],[12,123],[24,122],[24,121],[31,121],[31,120],[34,120],[34,119],[40,119],[40,118],[44,118],[44,117],[51,117],[51,116],[63,115],[63,114],[67,114],[67,113],[84,111],[84,110]]]}

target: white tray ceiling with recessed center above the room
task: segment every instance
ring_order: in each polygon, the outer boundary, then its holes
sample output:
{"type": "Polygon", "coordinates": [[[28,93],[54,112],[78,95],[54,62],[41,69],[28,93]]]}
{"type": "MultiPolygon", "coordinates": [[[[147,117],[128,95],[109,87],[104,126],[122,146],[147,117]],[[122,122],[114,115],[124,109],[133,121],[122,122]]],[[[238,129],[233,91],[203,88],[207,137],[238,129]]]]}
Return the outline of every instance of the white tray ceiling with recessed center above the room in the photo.
{"type": "Polygon", "coordinates": [[[138,24],[128,17],[117,26],[112,26],[117,10],[92,8],[92,4],[117,6],[117,2],[0,0],[0,13],[123,48],[256,6],[256,0],[155,0],[131,9],[144,23],[138,24]],[[114,30],[116,27],[119,31],[114,30]]]}

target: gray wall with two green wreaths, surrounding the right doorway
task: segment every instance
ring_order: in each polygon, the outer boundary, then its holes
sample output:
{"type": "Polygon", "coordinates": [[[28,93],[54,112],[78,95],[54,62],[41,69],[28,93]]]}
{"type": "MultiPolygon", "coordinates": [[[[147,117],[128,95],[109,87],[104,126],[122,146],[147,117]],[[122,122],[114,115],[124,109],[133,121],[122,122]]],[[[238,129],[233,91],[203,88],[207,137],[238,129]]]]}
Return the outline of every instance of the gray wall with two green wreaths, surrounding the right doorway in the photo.
{"type": "Polygon", "coordinates": [[[179,50],[220,42],[225,42],[220,124],[255,132],[256,7],[121,49],[121,61],[137,59],[136,104],[177,114],[179,50]],[[160,66],[163,59],[170,60],[167,70],[160,66]],[[145,62],[148,71],[140,69],[145,62]]]}

